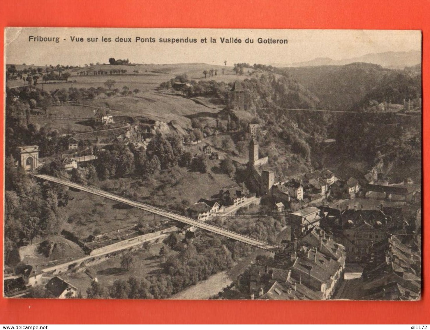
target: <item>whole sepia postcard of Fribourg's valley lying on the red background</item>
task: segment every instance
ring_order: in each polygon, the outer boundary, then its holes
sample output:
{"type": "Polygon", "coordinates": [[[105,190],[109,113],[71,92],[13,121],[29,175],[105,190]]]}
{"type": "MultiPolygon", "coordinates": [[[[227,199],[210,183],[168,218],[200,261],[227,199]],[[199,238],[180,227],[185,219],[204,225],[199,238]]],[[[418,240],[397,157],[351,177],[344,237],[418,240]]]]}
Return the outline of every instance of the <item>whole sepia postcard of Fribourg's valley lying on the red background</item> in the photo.
{"type": "Polygon", "coordinates": [[[6,28],[3,296],[421,299],[421,43],[6,28]]]}

